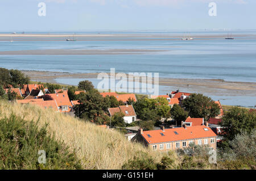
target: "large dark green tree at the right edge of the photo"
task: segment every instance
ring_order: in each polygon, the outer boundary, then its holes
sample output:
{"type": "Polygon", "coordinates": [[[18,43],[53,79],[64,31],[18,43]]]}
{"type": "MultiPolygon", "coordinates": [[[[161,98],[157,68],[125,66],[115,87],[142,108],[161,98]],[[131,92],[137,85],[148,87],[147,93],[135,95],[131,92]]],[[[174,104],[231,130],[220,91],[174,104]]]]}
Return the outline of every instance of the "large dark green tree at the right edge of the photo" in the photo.
{"type": "Polygon", "coordinates": [[[248,110],[233,107],[222,117],[220,123],[224,140],[231,141],[237,134],[242,132],[250,133],[256,127],[256,113],[249,113],[248,110]]]}

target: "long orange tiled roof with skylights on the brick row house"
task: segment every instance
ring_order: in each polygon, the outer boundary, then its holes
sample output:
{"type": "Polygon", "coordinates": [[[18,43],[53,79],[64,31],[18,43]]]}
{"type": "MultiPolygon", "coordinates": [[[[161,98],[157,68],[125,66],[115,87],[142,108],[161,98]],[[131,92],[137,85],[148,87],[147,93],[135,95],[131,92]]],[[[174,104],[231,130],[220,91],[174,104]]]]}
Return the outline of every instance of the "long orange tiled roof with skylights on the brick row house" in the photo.
{"type": "Polygon", "coordinates": [[[181,140],[191,140],[196,138],[207,138],[216,137],[217,135],[205,125],[187,127],[186,129],[181,128],[171,128],[171,129],[158,129],[153,131],[143,131],[141,134],[148,144],[158,144],[161,142],[172,142],[181,140]],[[207,129],[207,131],[205,131],[207,129]],[[176,132],[176,133],[175,133],[176,132]],[[163,133],[164,136],[162,136],[163,133]]]}

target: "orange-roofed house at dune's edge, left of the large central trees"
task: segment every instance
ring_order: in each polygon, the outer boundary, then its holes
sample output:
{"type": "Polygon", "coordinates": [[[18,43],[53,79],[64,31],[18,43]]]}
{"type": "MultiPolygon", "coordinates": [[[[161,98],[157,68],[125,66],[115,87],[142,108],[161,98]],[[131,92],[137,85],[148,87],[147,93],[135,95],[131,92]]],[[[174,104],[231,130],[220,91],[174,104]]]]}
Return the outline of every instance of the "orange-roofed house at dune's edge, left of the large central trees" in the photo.
{"type": "Polygon", "coordinates": [[[60,112],[70,112],[72,109],[71,101],[68,98],[68,92],[64,91],[63,93],[57,94],[46,94],[50,95],[52,99],[56,100],[57,106],[60,112]]]}

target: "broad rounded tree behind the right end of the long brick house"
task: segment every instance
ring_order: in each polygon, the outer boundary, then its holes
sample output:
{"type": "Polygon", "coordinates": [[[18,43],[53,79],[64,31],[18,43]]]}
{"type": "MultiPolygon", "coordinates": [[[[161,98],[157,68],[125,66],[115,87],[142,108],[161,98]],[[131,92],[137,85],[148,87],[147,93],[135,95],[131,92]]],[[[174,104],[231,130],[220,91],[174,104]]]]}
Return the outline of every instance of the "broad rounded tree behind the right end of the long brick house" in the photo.
{"type": "Polygon", "coordinates": [[[218,104],[203,94],[191,94],[189,98],[182,101],[182,105],[191,117],[203,117],[204,120],[208,120],[220,114],[218,104]]]}

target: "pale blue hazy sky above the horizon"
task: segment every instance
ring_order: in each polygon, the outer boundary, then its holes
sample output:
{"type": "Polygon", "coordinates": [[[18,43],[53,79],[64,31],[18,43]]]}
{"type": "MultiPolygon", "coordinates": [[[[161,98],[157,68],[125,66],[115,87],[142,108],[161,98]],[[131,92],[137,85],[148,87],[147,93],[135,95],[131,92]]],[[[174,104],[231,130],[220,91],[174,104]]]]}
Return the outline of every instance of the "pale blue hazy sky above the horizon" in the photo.
{"type": "Polygon", "coordinates": [[[0,31],[256,29],[255,0],[0,0],[0,31]],[[38,16],[38,3],[46,16],[38,16]],[[217,16],[209,16],[210,2],[217,16]]]}

